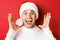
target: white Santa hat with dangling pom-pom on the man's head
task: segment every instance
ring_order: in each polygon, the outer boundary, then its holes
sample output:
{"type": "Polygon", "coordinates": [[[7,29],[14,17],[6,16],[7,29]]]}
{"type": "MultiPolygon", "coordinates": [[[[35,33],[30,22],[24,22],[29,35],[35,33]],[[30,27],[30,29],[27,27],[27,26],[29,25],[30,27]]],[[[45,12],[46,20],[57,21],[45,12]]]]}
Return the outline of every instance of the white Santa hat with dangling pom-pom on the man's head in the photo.
{"type": "MultiPolygon", "coordinates": [[[[20,10],[19,10],[20,17],[22,17],[23,11],[25,11],[27,9],[31,9],[31,10],[35,11],[37,19],[38,19],[38,7],[36,6],[36,4],[34,4],[32,2],[26,2],[26,3],[23,3],[21,5],[20,10]]],[[[23,25],[23,21],[22,21],[21,18],[16,20],[16,25],[18,25],[18,26],[22,26],[23,25]]]]}

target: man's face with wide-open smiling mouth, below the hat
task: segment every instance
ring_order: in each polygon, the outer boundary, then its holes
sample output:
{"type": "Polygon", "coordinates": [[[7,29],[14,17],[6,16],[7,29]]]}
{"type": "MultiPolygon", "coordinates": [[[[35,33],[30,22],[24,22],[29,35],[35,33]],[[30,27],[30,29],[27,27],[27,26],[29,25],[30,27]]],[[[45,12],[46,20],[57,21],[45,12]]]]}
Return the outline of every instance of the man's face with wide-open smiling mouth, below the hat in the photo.
{"type": "Polygon", "coordinates": [[[33,10],[28,9],[22,13],[23,23],[28,28],[34,27],[36,19],[36,13],[33,10]]]}

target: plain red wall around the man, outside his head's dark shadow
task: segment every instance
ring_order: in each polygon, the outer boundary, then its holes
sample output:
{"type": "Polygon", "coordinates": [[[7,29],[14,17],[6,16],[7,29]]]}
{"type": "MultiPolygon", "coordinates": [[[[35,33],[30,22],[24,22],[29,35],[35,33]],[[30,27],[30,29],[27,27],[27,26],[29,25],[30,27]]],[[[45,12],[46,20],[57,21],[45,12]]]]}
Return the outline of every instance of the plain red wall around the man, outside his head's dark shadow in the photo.
{"type": "MultiPolygon", "coordinates": [[[[0,40],[4,40],[8,31],[8,13],[12,13],[14,20],[19,18],[19,7],[27,0],[0,0],[0,40]]],[[[50,28],[60,40],[60,1],[59,0],[28,0],[35,2],[46,13],[51,12],[50,28]]]]}

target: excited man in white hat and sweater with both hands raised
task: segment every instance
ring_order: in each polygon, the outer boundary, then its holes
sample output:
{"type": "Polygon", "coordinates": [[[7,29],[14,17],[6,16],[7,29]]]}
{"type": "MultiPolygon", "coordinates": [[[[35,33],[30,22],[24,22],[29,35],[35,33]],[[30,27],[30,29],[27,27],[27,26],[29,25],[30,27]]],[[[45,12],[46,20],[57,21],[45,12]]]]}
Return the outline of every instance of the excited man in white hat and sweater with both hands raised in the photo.
{"type": "Polygon", "coordinates": [[[9,31],[5,40],[56,40],[49,29],[51,15],[44,15],[43,25],[36,26],[35,22],[38,19],[38,8],[32,2],[26,2],[21,5],[20,19],[16,21],[17,27],[14,24],[14,19],[11,14],[8,16],[9,31]]]}

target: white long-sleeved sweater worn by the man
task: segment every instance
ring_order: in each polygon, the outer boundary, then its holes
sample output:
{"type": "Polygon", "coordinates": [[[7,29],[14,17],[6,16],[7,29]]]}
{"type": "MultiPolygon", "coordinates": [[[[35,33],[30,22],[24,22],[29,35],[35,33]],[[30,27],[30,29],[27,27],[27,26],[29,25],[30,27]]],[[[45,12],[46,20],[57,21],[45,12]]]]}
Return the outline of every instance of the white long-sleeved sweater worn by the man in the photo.
{"type": "Polygon", "coordinates": [[[14,31],[13,29],[9,29],[5,40],[56,40],[49,27],[45,29],[40,29],[37,26],[34,28],[26,28],[23,26],[22,28],[14,31]]]}

